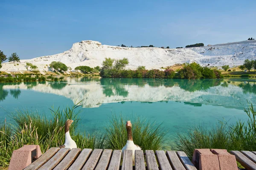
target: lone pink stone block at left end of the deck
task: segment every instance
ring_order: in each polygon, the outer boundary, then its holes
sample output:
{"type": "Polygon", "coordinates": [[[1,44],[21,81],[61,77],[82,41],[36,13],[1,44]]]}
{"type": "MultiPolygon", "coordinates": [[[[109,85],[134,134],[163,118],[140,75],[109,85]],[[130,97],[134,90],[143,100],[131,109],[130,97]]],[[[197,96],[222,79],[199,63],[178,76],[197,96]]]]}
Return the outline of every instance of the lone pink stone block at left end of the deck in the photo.
{"type": "Polygon", "coordinates": [[[39,145],[24,145],[13,151],[8,170],[23,170],[41,155],[39,145]]]}

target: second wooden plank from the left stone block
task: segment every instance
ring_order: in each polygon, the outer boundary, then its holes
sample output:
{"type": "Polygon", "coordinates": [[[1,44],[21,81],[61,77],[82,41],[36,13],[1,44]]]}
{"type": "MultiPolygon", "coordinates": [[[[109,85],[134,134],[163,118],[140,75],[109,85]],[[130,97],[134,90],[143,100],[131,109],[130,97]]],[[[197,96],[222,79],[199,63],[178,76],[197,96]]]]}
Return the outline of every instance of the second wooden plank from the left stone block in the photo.
{"type": "Polygon", "coordinates": [[[49,161],[47,161],[39,170],[52,170],[70,151],[70,148],[61,148],[49,161]]]}

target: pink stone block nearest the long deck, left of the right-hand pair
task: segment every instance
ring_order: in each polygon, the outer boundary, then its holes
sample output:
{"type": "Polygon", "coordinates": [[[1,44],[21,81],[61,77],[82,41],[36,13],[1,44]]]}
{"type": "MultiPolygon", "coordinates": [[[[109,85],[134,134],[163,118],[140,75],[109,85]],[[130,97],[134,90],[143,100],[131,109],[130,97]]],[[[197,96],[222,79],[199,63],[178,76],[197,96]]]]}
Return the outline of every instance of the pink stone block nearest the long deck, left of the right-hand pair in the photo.
{"type": "Polygon", "coordinates": [[[220,170],[218,156],[209,149],[195,149],[192,163],[199,170],[220,170]]]}

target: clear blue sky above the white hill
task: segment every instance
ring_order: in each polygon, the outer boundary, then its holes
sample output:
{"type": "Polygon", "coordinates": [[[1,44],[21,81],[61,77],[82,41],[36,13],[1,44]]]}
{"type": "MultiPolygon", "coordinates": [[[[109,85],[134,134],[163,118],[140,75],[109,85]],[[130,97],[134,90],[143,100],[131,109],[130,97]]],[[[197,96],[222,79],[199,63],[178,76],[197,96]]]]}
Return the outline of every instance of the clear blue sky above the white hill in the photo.
{"type": "Polygon", "coordinates": [[[81,40],[176,48],[256,38],[256,0],[0,0],[0,50],[20,59],[81,40]]]}

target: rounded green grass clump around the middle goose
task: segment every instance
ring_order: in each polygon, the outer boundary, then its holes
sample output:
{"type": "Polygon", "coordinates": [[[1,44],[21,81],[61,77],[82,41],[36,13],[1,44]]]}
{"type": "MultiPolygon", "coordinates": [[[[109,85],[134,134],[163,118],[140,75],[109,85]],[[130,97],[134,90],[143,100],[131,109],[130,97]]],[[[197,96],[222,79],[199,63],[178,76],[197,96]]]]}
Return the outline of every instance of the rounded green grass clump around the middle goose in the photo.
{"type": "Polygon", "coordinates": [[[141,120],[140,117],[128,118],[116,115],[110,119],[110,123],[105,128],[105,148],[122,149],[127,141],[126,121],[131,120],[132,135],[134,144],[139,145],[142,150],[160,150],[165,140],[166,130],[162,124],[157,125],[156,122],[149,122],[146,119],[141,120]],[[148,142],[150,141],[150,142],[148,142]]]}

